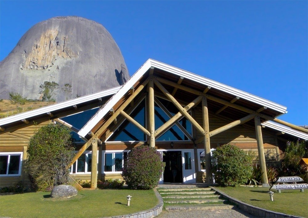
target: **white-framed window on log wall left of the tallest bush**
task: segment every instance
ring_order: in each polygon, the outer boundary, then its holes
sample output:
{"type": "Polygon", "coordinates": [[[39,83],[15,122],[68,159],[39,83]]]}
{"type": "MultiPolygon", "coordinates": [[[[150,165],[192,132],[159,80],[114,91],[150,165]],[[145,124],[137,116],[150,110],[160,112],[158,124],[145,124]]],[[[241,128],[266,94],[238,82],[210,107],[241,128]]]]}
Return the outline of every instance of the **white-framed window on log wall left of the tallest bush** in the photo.
{"type": "Polygon", "coordinates": [[[0,154],[0,176],[20,176],[22,153],[0,154]]]}

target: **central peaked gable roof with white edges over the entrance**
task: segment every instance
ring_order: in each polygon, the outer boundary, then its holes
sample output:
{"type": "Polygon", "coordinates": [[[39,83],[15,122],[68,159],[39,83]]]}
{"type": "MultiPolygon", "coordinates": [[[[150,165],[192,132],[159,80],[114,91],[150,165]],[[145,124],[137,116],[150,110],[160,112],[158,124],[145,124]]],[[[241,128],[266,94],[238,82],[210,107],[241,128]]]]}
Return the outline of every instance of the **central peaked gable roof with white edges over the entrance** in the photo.
{"type": "Polygon", "coordinates": [[[190,87],[194,88],[197,87],[200,90],[201,89],[204,90],[205,87],[210,86],[211,87],[210,90],[211,92],[213,92],[214,95],[218,97],[222,96],[225,98],[225,100],[229,99],[230,101],[234,97],[240,97],[241,104],[248,105],[251,109],[257,110],[258,107],[260,108],[264,106],[266,107],[266,113],[271,117],[276,117],[283,113],[286,113],[285,106],[279,105],[277,103],[274,103],[272,101],[266,100],[261,97],[257,97],[253,94],[249,94],[239,89],[235,89],[228,85],[224,85],[222,83],[213,81],[211,79],[201,77],[199,75],[190,73],[183,69],[179,69],[171,65],[155,61],[153,59],[148,59],[148,61],[146,61],[144,65],[142,65],[140,69],[136,71],[136,73],[121,87],[121,89],[114,96],[112,96],[107,101],[107,103],[103,105],[101,109],[99,109],[99,111],[87,122],[87,124],[82,129],[80,129],[79,135],[85,137],[87,133],[89,133],[97,125],[97,123],[103,119],[103,117],[109,112],[109,110],[118,101],[120,101],[120,99],[126,93],[128,93],[130,88],[136,85],[138,81],[140,81],[145,76],[145,74],[151,67],[154,67],[154,71],[156,72],[156,74],[164,76],[165,78],[168,79],[172,79],[173,77],[175,82],[179,77],[183,77],[184,80],[182,84],[184,84],[185,81],[186,82],[185,85],[188,85],[190,87]]]}

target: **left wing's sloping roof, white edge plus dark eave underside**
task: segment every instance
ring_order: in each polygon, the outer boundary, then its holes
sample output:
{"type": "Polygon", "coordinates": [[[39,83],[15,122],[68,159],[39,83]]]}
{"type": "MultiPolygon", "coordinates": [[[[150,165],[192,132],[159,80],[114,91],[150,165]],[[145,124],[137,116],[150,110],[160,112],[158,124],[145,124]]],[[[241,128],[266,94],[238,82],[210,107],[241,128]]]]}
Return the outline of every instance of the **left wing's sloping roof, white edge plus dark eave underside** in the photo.
{"type": "MultiPolygon", "coordinates": [[[[48,105],[39,109],[30,110],[24,113],[18,113],[14,116],[5,117],[0,119],[0,126],[4,129],[25,124],[22,120],[25,119],[29,122],[36,120],[49,120],[53,118],[63,117],[68,114],[73,114],[78,112],[79,109],[90,109],[87,106],[90,105],[102,105],[106,100],[116,92],[120,90],[122,86],[117,86],[115,88],[106,89],[100,92],[88,94],[82,97],[74,98],[71,100],[59,102],[53,105],[48,105]],[[99,99],[102,98],[102,99],[99,99]],[[100,103],[101,102],[101,103],[100,103]],[[74,109],[74,105],[77,106],[77,110],[74,109]],[[52,113],[54,116],[51,117],[47,113],[52,113]]],[[[96,106],[96,107],[97,107],[96,106]]],[[[80,111],[80,110],[79,110],[80,111]]]]}

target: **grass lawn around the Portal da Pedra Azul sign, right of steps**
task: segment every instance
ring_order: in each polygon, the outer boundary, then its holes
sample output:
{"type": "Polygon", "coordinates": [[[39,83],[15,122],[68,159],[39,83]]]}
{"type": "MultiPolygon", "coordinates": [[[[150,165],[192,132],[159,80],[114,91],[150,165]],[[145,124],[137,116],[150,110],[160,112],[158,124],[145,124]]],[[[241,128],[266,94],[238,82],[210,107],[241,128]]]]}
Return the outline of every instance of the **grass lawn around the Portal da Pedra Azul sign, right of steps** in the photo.
{"type": "Polygon", "coordinates": [[[274,201],[270,201],[269,188],[263,187],[217,187],[227,195],[245,203],[272,211],[308,217],[308,190],[274,191],[274,201]]]}

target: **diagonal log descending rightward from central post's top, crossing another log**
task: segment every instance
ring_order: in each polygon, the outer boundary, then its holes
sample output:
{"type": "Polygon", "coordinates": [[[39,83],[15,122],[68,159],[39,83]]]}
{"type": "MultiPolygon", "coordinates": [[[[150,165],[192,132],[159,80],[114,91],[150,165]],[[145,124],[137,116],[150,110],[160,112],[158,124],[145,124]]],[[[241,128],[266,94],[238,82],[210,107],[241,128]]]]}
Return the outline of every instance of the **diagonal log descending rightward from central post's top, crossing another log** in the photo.
{"type": "Polygon", "coordinates": [[[180,111],[180,113],[188,119],[195,127],[196,129],[202,134],[205,135],[204,129],[197,123],[197,121],[194,120],[192,116],[180,105],[179,102],[176,101],[176,99],[167,91],[167,89],[164,88],[163,85],[156,79],[154,79],[155,85],[162,91],[168,99],[176,106],[176,108],[180,111]]]}

